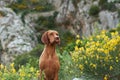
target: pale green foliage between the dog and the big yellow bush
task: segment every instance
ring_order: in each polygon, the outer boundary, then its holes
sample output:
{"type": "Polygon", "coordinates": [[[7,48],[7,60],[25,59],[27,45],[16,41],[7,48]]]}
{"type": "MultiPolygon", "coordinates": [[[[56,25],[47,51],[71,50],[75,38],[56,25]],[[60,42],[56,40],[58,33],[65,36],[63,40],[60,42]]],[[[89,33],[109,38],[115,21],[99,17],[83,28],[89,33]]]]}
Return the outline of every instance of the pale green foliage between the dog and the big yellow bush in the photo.
{"type": "Polygon", "coordinates": [[[60,71],[59,80],[72,80],[74,77],[80,77],[79,69],[75,67],[74,62],[71,59],[70,53],[66,50],[59,54],[60,59],[60,71]],[[78,69],[78,70],[77,70],[78,69]]]}

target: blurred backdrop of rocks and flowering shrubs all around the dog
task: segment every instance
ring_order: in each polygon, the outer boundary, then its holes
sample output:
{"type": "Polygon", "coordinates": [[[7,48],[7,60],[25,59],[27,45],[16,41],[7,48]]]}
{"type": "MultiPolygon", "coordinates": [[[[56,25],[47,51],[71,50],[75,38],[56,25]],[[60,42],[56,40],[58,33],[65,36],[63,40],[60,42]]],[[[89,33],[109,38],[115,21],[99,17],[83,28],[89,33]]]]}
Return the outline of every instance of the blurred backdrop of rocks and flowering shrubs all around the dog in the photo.
{"type": "Polygon", "coordinates": [[[120,80],[120,0],[0,0],[0,80],[37,80],[49,29],[59,80],[120,80]]]}

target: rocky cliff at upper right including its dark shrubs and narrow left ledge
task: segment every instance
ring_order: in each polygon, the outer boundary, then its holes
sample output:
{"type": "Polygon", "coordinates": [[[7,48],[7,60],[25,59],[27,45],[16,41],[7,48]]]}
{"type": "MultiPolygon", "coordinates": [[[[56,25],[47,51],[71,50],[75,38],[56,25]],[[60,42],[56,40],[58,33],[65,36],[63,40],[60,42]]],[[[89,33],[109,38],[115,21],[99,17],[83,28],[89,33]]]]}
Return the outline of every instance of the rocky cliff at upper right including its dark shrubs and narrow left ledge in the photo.
{"type": "MultiPolygon", "coordinates": [[[[58,12],[56,23],[73,34],[92,35],[96,30],[112,29],[120,19],[120,2],[117,0],[48,0],[55,6],[50,12],[30,13],[25,20],[38,16],[51,16],[58,12]]],[[[31,22],[31,21],[29,21],[31,22]]],[[[28,23],[29,23],[28,22],[28,23]]]]}

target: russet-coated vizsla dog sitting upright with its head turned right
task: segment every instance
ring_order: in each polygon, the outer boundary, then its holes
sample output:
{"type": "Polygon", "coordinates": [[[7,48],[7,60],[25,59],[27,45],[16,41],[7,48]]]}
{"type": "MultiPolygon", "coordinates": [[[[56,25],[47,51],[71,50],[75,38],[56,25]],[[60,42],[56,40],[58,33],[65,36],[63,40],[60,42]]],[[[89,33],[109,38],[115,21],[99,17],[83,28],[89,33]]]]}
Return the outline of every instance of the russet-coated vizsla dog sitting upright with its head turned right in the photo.
{"type": "Polygon", "coordinates": [[[42,35],[41,41],[45,47],[39,60],[40,71],[44,73],[44,80],[58,80],[60,63],[55,51],[56,44],[60,44],[58,32],[55,30],[46,31],[42,35]]]}

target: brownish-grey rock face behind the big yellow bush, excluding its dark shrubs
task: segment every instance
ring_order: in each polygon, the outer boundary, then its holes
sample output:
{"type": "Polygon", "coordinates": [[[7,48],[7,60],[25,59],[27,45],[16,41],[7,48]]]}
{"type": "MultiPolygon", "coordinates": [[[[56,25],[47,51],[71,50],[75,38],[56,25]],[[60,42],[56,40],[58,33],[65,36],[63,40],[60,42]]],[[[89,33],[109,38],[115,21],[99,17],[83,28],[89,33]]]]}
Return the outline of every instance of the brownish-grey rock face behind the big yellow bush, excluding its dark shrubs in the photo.
{"type": "MultiPolygon", "coordinates": [[[[73,34],[85,36],[93,34],[96,29],[115,28],[119,22],[117,11],[101,10],[98,17],[89,15],[91,5],[98,5],[98,3],[99,0],[78,0],[76,2],[64,0],[58,10],[56,21],[70,29],[73,34]]],[[[119,5],[117,3],[116,7],[119,5]]]]}

